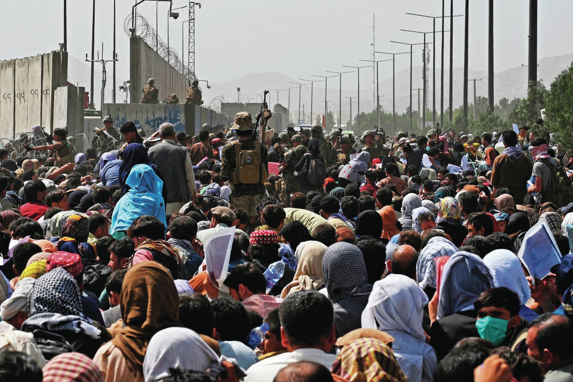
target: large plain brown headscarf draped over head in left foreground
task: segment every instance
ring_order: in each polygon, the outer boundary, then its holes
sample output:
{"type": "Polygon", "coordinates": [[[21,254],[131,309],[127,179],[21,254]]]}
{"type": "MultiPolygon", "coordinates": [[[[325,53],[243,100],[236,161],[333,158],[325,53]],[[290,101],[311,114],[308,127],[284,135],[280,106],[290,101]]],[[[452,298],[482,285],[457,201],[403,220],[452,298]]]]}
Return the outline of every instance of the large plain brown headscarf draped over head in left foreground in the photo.
{"type": "Polygon", "coordinates": [[[120,296],[125,328],[113,345],[143,373],[143,359],[151,337],[159,330],[182,326],[179,296],[169,271],[155,261],[140,262],[125,274],[120,296]]]}

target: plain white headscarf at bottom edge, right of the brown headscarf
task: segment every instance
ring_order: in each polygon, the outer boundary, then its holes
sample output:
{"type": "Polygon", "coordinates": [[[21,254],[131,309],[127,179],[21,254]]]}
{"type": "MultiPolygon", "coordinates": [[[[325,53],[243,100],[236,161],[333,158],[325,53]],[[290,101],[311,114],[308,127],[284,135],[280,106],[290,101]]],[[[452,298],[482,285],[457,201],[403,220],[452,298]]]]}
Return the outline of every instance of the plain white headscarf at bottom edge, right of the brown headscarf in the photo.
{"type": "Polygon", "coordinates": [[[146,382],[151,382],[167,377],[169,369],[176,367],[216,375],[225,368],[223,361],[238,367],[236,360],[219,357],[193,330],[167,328],[151,337],[143,360],[143,375],[146,382]]]}

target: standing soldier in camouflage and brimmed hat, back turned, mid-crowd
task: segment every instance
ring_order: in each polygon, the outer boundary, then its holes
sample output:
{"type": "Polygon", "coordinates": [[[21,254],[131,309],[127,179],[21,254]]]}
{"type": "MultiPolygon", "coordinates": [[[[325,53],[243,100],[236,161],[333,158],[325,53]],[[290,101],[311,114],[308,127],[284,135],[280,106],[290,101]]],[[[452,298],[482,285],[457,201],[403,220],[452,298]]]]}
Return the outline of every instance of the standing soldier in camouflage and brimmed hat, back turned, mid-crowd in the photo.
{"type": "Polygon", "coordinates": [[[242,208],[249,215],[249,232],[253,231],[258,225],[259,215],[256,207],[262,199],[266,197],[264,183],[268,178],[269,162],[267,159],[266,147],[262,146],[260,141],[253,140],[253,131],[256,126],[253,123],[249,112],[238,112],[235,121],[231,125],[235,129],[237,139],[232,140],[223,147],[221,158],[221,179],[223,182],[229,180],[231,195],[229,197],[230,208],[242,208]],[[236,146],[240,149],[236,152],[236,146]],[[255,155],[250,153],[244,154],[244,151],[253,150],[255,155]],[[258,157],[256,152],[258,151],[258,157]],[[241,171],[237,168],[237,156],[243,158],[241,162],[241,171]],[[257,163],[258,162],[258,163],[257,163]],[[257,164],[257,172],[243,171],[249,168],[252,170],[254,164],[257,164]],[[249,176],[249,183],[241,183],[242,178],[249,176]],[[256,178],[253,180],[253,177],[256,178]],[[258,180],[257,180],[258,179],[258,180]]]}

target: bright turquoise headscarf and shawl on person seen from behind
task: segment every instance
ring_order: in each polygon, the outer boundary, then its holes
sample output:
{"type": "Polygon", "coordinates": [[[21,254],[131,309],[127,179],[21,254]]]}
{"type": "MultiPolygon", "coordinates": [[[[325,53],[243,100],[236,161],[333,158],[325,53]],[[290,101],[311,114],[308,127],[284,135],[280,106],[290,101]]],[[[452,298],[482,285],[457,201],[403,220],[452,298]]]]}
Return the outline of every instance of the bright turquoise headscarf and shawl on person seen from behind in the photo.
{"type": "Polygon", "coordinates": [[[138,164],[129,172],[125,183],[131,188],[113,209],[109,232],[126,231],[136,218],[143,215],[156,216],[167,227],[161,196],[163,180],[155,175],[153,169],[147,164],[138,164]]]}

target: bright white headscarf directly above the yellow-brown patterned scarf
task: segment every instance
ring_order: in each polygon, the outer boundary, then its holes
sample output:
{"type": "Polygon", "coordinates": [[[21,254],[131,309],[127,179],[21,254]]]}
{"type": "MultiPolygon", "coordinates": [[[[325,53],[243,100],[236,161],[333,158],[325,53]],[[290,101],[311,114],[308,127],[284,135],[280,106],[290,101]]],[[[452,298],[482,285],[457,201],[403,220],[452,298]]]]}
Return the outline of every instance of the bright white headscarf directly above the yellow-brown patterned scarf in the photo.
{"type": "Polygon", "coordinates": [[[362,328],[398,330],[425,340],[422,318],[427,303],[426,293],[413,279],[390,274],[374,283],[362,312],[362,328]]]}

